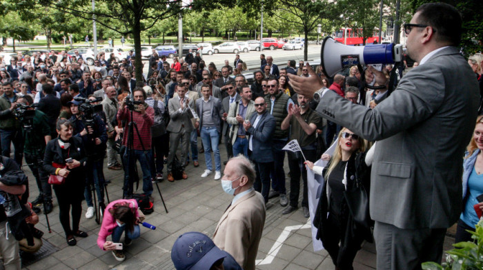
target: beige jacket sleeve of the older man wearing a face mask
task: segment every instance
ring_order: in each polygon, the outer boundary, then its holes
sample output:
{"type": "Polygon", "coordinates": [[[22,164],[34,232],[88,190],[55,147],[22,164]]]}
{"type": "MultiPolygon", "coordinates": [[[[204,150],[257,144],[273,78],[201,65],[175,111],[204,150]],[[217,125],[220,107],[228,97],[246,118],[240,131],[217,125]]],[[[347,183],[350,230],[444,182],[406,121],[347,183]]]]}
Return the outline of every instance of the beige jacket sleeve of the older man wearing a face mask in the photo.
{"type": "Polygon", "coordinates": [[[250,245],[250,236],[244,220],[239,218],[230,218],[227,220],[227,228],[230,228],[230,233],[225,236],[225,251],[230,253],[233,258],[243,266],[248,256],[248,246],[250,245]]]}

